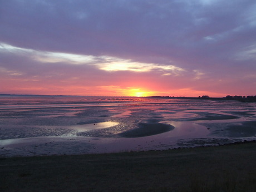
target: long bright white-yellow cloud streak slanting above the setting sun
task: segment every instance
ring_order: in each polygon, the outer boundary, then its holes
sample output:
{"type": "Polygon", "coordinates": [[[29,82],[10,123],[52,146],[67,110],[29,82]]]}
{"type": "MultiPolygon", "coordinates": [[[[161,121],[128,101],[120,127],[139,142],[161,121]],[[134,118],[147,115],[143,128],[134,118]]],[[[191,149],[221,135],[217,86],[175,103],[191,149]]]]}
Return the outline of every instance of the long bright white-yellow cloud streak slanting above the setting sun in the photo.
{"type": "Polygon", "coordinates": [[[175,74],[184,71],[173,65],[160,65],[159,63],[141,63],[108,56],[88,56],[60,52],[36,51],[27,48],[14,47],[6,43],[0,43],[0,52],[11,52],[14,55],[26,55],[32,60],[42,63],[69,63],[75,65],[92,65],[105,71],[135,71],[148,72],[152,70],[163,71],[164,75],[175,74]]]}

